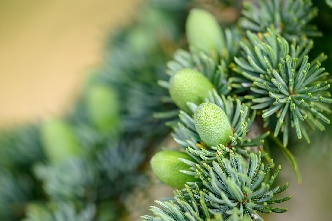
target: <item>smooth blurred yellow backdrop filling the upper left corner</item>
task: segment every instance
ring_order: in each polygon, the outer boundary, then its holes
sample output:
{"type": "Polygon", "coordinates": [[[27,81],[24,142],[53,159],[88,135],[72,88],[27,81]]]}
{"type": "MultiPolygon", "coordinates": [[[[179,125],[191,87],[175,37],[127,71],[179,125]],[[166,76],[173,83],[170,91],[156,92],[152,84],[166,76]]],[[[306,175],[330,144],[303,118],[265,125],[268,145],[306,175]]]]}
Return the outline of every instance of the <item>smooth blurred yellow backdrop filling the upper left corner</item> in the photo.
{"type": "Polygon", "coordinates": [[[140,0],[1,0],[0,127],[59,114],[140,0]]]}

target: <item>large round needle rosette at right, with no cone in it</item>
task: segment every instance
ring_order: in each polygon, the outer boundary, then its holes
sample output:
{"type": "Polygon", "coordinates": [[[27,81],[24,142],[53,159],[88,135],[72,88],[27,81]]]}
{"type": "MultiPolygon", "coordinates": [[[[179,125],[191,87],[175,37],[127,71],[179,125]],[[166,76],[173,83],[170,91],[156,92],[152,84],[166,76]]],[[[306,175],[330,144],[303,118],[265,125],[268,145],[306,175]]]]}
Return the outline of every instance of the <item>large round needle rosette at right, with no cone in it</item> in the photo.
{"type": "Polygon", "coordinates": [[[265,125],[276,115],[274,135],[284,133],[284,146],[289,126],[295,127],[299,139],[303,135],[309,143],[303,122],[318,130],[325,129],[321,121],[330,123],[323,113],[331,113],[326,105],[332,102],[327,91],[331,80],[325,68],[320,67],[326,56],[321,54],[308,63],[312,41],[303,38],[297,44],[294,39],[289,44],[271,29],[264,35],[247,31],[247,36],[250,42],[241,43],[244,57],[234,58],[237,66],[233,69],[253,83],[250,90],[254,94],[246,96],[256,103],[251,108],[263,110],[265,125]]]}

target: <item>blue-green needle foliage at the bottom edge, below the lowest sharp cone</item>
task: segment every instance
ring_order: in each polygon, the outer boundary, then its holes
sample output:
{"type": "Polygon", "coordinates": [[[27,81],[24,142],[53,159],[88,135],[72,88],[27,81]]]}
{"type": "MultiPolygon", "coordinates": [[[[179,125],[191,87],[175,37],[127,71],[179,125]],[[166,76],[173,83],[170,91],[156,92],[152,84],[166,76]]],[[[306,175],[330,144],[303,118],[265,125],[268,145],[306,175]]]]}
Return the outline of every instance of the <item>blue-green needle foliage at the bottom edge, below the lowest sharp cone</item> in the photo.
{"type": "MultiPolygon", "coordinates": [[[[211,166],[196,164],[196,174],[201,179],[200,182],[187,182],[186,190],[188,195],[184,195],[177,190],[178,195],[174,198],[177,203],[170,200],[168,202],[157,203],[166,210],[151,207],[158,217],[142,216],[145,220],[208,220],[210,217],[218,217],[223,220],[263,220],[256,211],[262,213],[286,212],[288,209],[269,207],[268,204],[287,201],[291,196],[273,199],[274,195],[283,192],[288,187],[277,186],[270,189],[275,178],[278,176],[281,166],[271,178],[264,182],[265,176],[269,173],[273,160],[265,167],[261,163],[261,153],[258,155],[251,153],[249,157],[248,170],[241,155],[230,152],[230,159],[225,159],[218,152],[216,161],[212,161],[211,166]],[[199,201],[198,201],[199,200],[199,201]],[[191,203],[190,203],[191,202],[191,203]],[[233,217],[233,218],[232,218],[233,217]],[[201,219],[200,219],[201,218],[201,219]]],[[[184,161],[192,165],[194,162],[184,161]]],[[[218,220],[218,219],[217,219],[218,220]]]]}

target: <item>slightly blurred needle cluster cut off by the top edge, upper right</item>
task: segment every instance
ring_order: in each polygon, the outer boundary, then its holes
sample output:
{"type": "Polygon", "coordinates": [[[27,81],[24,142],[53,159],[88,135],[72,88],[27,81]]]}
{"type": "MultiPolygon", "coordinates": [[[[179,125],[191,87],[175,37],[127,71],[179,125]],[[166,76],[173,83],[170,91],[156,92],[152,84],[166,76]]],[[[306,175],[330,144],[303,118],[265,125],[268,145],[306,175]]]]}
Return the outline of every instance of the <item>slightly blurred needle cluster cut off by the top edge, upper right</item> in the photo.
{"type": "Polygon", "coordinates": [[[322,33],[315,25],[308,24],[318,15],[318,9],[312,7],[311,0],[260,0],[255,5],[246,1],[243,4],[243,18],[239,25],[252,32],[267,32],[271,26],[288,41],[301,36],[318,37],[322,33]]]}

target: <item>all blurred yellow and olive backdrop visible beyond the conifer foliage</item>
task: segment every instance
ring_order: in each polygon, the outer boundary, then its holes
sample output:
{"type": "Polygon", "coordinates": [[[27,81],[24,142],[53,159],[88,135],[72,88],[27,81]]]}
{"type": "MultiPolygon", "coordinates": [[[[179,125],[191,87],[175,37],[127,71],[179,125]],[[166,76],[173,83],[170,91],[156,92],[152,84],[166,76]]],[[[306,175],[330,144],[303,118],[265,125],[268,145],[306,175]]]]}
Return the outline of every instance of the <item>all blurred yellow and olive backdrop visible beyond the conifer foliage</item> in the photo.
{"type": "MultiPolygon", "coordinates": [[[[86,73],[102,62],[109,33],[130,24],[141,2],[1,0],[0,128],[68,111],[86,73]]],[[[175,145],[171,138],[161,144],[171,145],[175,145]]],[[[292,199],[283,205],[290,208],[287,213],[269,215],[266,220],[331,220],[332,158],[326,157],[331,156],[330,146],[330,141],[316,141],[303,143],[304,148],[295,151],[300,186],[281,151],[276,151],[276,161],[283,165],[279,182],[290,183],[284,194],[292,199]]],[[[172,195],[171,188],[157,183],[148,165],[145,169],[155,184],[148,193],[132,194],[127,200],[131,214],[124,220],[141,220],[139,216],[150,214],[153,200],[172,195]]]]}

